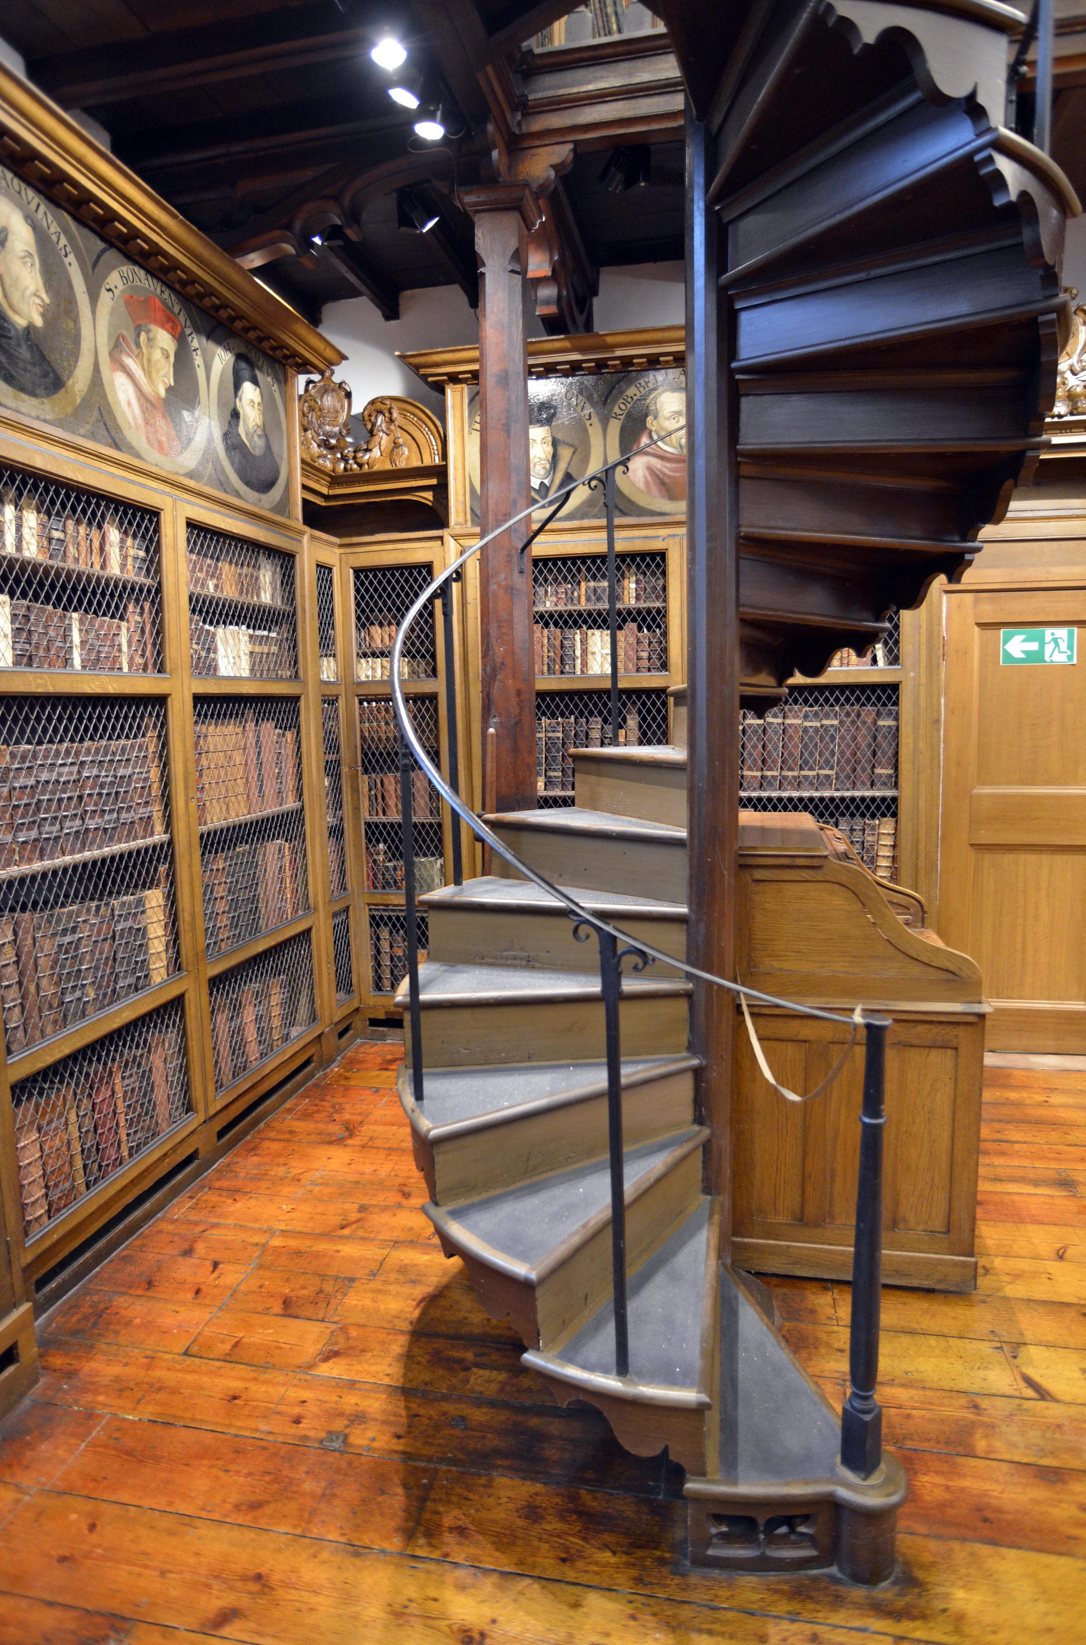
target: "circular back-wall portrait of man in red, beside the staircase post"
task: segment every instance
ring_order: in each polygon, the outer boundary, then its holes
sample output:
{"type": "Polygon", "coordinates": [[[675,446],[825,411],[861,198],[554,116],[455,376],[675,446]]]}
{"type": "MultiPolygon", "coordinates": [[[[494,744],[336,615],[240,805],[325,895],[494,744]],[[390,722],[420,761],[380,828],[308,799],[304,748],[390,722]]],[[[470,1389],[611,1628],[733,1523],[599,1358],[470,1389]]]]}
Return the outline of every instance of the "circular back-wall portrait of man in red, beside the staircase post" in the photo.
{"type": "Polygon", "coordinates": [[[686,383],[683,372],[627,378],[607,415],[607,457],[629,454],[617,487],[635,513],[686,512],[686,383]]]}

